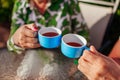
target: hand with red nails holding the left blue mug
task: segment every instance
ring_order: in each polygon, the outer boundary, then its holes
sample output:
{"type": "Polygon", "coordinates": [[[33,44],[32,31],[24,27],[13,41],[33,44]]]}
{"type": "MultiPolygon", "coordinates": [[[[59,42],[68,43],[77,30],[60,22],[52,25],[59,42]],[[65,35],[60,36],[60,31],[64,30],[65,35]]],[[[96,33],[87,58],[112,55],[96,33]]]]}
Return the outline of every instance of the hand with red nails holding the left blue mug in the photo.
{"type": "Polygon", "coordinates": [[[40,47],[36,37],[37,31],[35,24],[21,26],[13,35],[14,44],[26,49],[40,47]]]}

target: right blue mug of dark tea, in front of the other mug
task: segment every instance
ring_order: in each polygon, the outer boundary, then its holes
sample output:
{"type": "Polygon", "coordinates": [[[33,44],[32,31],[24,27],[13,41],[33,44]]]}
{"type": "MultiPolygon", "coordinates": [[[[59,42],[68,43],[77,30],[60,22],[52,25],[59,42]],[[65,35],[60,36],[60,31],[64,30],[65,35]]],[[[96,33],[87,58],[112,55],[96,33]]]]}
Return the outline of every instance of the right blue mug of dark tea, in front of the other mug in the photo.
{"type": "Polygon", "coordinates": [[[84,37],[77,34],[66,34],[62,37],[61,51],[69,58],[79,58],[85,49],[87,41],[84,37]]]}

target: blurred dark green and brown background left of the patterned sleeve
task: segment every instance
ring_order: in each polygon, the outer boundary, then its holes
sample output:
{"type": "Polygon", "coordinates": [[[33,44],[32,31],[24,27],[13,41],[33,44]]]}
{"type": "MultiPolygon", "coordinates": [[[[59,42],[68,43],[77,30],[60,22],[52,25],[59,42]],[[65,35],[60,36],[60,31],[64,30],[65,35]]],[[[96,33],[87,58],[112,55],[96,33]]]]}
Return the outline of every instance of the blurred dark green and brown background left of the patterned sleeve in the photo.
{"type": "Polygon", "coordinates": [[[0,48],[6,47],[15,0],[0,0],[0,48]]]}

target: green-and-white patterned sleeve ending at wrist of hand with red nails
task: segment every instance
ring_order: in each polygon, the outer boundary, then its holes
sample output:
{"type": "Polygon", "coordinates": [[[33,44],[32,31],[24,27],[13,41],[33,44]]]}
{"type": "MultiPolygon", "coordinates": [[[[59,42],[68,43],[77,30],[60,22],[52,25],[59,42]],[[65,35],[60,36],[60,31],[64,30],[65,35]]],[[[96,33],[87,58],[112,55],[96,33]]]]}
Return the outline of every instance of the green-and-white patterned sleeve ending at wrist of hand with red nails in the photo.
{"type": "Polygon", "coordinates": [[[15,53],[22,53],[22,51],[24,50],[23,48],[20,48],[20,47],[14,45],[14,42],[12,40],[12,35],[19,28],[20,25],[24,24],[22,18],[20,18],[20,16],[23,16],[23,15],[21,15],[21,11],[20,11],[21,3],[22,2],[20,0],[16,0],[16,2],[14,4],[13,14],[12,14],[12,23],[11,23],[11,32],[10,32],[9,39],[7,41],[8,50],[13,51],[15,53]]]}

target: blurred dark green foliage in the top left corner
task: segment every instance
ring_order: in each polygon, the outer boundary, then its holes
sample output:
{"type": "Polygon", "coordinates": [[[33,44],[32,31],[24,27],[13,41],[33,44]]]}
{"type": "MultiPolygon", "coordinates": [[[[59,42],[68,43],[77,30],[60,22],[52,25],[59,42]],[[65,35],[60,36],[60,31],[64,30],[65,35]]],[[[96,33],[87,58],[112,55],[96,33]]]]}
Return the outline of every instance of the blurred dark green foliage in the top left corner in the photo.
{"type": "Polygon", "coordinates": [[[10,22],[15,0],[0,0],[0,22],[10,22]]]}

